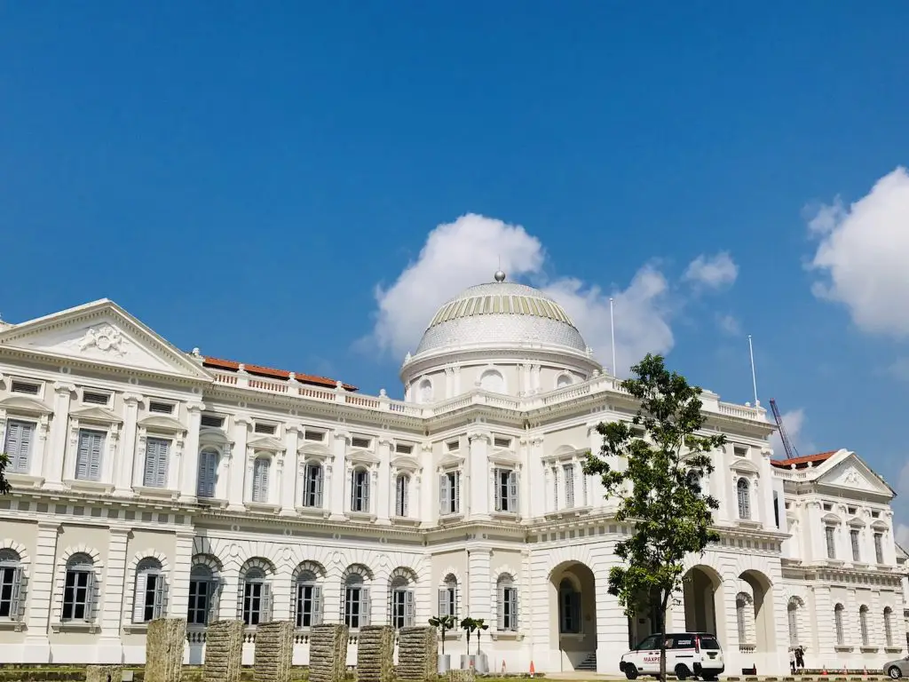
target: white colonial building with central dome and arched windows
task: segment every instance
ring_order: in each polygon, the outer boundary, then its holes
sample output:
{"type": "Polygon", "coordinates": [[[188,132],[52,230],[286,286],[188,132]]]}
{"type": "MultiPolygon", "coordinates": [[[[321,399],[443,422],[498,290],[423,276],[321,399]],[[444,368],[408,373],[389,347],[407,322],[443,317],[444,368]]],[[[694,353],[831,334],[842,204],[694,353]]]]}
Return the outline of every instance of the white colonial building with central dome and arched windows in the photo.
{"type": "MultiPolygon", "coordinates": [[[[495,279],[439,309],[404,401],[182,352],[107,300],[0,326],[3,660],[141,662],[167,616],[187,661],[242,618],[250,642],[293,620],[298,664],[346,622],[353,663],[358,627],[451,613],[489,624],[496,671],[617,672],[651,619],[606,592],[627,528],[581,463],[634,401],[562,307],[495,279]]],[[[703,397],[722,540],[671,628],[714,631],[728,672],[783,672],[796,643],[809,667],[902,653],[893,490],[846,450],[774,460],[764,409],[703,397]]]]}

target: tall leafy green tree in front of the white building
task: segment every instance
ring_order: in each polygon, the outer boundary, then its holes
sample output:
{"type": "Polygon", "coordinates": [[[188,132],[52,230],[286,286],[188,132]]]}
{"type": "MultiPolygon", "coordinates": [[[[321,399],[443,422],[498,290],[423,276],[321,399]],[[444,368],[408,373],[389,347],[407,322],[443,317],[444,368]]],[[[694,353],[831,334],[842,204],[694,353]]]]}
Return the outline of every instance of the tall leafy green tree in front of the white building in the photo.
{"type": "MultiPolygon", "coordinates": [[[[584,472],[602,478],[605,496],[619,501],[616,520],[634,527],[615,546],[624,565],[609,571],[609,594],[629,617],[654,607],[663,631],[669,600],[682,588],[685,557],[703,554],[719,539],[712,529],[719,503],[704,494],[701,482],[714,470],[709,453],[724,445],[725,436],[698,435],[705,421],[701,388],[667,370],[662,356],[648,353],[632,373],[622,387],[636,398],[638,411],[631,425],[596,427],[603,446],[598,455],[588,453],[584,472]]],[[[666,678],[665,637],[660,677],[666,678]]]]}

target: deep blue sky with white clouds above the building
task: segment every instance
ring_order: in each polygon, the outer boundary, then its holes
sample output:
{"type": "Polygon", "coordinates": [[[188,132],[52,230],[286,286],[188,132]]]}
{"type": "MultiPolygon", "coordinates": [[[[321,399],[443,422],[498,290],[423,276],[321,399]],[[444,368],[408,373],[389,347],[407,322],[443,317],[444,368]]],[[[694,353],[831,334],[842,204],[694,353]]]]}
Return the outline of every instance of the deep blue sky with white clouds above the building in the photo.
{"type": "Polygon", "coordinates": [[[0,314],[106,296],[186,349],[398,396],[425,309],[502,257],[606,364],[610,294],[620,366],[653,346],[724,399],[751,399],[754,335],[801,449],[909,493],[907,24],[899,2],[4,3],[0,314]]]}

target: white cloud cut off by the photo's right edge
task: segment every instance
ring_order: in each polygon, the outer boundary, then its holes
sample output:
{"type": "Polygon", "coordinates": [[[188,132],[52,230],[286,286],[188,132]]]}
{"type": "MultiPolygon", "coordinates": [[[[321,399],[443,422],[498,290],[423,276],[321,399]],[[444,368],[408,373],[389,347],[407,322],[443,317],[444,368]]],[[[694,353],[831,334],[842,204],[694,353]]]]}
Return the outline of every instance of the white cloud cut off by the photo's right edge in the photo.
{"type": "Polygon", "coordinates": [[[909,336],[909,175],[903,167],[882,177],[846,208],[837,197],[809,221],[820,240],[809,268],[824,275],[814,295],[843,303],[865,332],[909,336]]]}

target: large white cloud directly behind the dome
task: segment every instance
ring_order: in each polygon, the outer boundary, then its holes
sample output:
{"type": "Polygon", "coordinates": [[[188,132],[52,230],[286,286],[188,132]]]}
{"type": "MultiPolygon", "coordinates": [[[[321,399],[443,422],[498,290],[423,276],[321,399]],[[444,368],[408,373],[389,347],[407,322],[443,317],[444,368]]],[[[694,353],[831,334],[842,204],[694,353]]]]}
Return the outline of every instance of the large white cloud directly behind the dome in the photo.
{"type": "MultiPolygon", "coordinates": [[[[365,342],[399,358],[412,352],[438,306],[467,286],[490,281],[498,258],[509,279],[542,281],[541,288],[564,306],[597,358],[611,364],[610,294],[573,277],[547,281],[539,239],[524,227],[475,214],[435,227],[420,255],[394,284],[376,287],[378,311],[365,342]]],[[[668,293],[663,273],[654,265],[644,265],[627,288],[612,294],[620,374],[646,352],[666,353],[673,347],[668,293]]]]}

